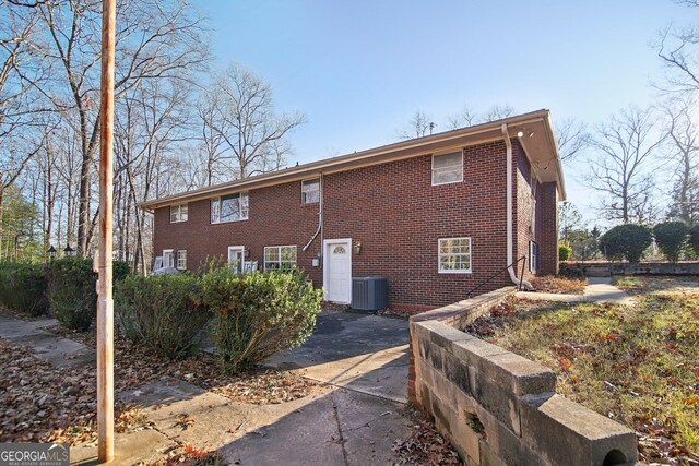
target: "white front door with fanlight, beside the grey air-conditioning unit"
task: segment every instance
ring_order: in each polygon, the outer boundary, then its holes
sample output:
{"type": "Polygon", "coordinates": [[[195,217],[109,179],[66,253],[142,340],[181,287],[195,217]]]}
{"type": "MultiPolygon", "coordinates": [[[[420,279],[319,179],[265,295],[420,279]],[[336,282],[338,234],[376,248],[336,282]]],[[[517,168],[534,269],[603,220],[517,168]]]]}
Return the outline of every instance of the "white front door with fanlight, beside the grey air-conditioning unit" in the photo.
{"type": "Polygon", "coordinates": [[[323,241],[323,287],[325,300],[352,302],[352,239],[323,241]]]}

